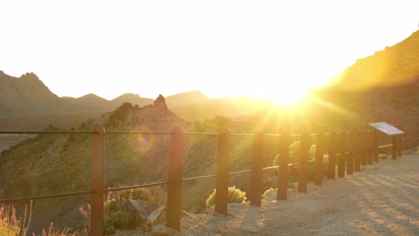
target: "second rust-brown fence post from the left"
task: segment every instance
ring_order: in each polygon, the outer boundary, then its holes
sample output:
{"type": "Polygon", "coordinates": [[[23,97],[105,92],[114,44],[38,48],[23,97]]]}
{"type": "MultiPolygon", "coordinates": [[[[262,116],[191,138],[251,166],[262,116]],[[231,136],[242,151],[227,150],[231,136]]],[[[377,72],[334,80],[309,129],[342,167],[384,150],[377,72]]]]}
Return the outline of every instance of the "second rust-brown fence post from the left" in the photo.
{"type": "Polygon", "coordinates": [[[181,221],[184,144],[184,128],[174,126],[170,133],[166,226],[176,231],[180,231],[181,221]]]}

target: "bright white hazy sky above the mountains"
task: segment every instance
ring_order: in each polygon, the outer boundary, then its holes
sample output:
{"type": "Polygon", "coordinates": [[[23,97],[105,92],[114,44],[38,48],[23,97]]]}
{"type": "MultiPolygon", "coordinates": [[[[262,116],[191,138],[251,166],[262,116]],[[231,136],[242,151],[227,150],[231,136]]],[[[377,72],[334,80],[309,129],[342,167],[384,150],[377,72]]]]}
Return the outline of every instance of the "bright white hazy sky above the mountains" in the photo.
{"type": "Polygon", "coordinates": [[[419,22],[417,0],[37,0],[0,9],[0,71],[34,72],[60,97],[107,99],[318,86],[419,22]]]}

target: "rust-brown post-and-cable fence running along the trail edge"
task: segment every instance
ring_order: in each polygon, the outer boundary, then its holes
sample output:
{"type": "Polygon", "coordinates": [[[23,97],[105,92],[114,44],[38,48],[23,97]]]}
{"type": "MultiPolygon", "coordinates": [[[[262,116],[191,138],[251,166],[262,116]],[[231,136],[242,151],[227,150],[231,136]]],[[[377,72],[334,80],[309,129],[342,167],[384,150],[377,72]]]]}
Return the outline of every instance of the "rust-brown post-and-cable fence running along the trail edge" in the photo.
{"type": "Polygon", "coordinates": [[[327,177],[335,179],[337,176],[336,166],[338,164],[338,177],[345,177],[345,174],[353,174],[361,170],[361,165],[373,164],[378,161],[378,150],[392,147],[392,158],[401,156],[401,141],[399,136],[391,139],[391,144],[378,146],[378,134],[372,131],[352,131],[337,133],[302,133],[289,134],[286,131],[280,134],[255,134],[230,133],[222,129],[218,133],[212,132],[185,132],[180,126],[173,127],[172,131],[105,131],[103,124],[93,126],[92,131],[0,131],[0,134],[90,134],[91,143],[91,190],[66,192],[42,196],[31,196],[24,198],[0,199],[0,202],[13,202],[30,199],[59,198],[66,196],[91,195],[91,233],[92,235],[103,235],[103,201],[104,193],[117,190],[133,190],[158,185],[167,185],[167,227],[180,231],[182,187],[183,181],[194,181],[208,178],[217,178],[215,211],[218,214],[227,215],[227,198],[229,176],[234,174],[250,173],[250,201],[253,206],[261,206],[261,180],[262,171],[278,170],[277,199],[286,200],[288,187],[288,167],[298,165],[298,191],[307,191],[308,164],[314,163],[314,184],[321,185],[323,179],[324,159],[329,159],[327,177]],[[104,189],[104,150],[105,137],[107,134],[158,134],[170,135],[169,140],[169,164],[167,181],[152,182],[148,184],[127,186],[121,188],[104,189]],[[217,151],[217,174],[183,178],[183,167],[185,153],[185,135],[218,136],[217,151]],[[324,136],[329,135],[329,146],[324,142],[324,136]],[[252,168],[238,172],[229,172],[230,139],[232,136],[252,136],[252,168]],[[316,153],[313,160],[309,160],[308,151],[310,147],[309,137],[316,137],[316,153]],[[278,137],[275,151],[278,153],[278,165],[262,167],[264,157],[264,143],[266,137],[278,137]],[[290,138],[300,138],[300,156],[298,163],[290,164],[289,142],[290,138]],[[325,147],[328,156],[325,156],[325,147]]]}

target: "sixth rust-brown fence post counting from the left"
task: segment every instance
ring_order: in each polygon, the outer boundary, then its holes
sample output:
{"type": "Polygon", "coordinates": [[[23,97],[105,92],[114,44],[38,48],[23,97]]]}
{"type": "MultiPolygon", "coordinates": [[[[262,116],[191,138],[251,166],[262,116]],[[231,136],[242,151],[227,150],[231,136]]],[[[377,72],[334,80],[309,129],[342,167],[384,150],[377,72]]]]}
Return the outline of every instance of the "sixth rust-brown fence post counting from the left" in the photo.
{"type": "Polygon", "coordinates": [[[300,142],[298,192],[307,192],[309,136],[306,132],[302,133],[300,142]]]}

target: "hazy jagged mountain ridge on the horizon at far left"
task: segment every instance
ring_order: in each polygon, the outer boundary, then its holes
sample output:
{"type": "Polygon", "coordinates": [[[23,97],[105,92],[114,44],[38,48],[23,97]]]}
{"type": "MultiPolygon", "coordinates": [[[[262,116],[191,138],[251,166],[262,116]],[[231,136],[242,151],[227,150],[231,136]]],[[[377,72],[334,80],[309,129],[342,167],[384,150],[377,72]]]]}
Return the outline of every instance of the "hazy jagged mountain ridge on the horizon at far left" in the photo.
{"type": "Polygon", "coordinates": [[[94,94],[58,97],[34,73],[15,78],[0,71],[0,118],[103,114],[125,102],[144,106],[153,99],[133,94],[124,94],[112,101],[94,94]]]}

